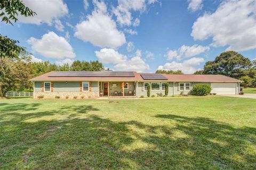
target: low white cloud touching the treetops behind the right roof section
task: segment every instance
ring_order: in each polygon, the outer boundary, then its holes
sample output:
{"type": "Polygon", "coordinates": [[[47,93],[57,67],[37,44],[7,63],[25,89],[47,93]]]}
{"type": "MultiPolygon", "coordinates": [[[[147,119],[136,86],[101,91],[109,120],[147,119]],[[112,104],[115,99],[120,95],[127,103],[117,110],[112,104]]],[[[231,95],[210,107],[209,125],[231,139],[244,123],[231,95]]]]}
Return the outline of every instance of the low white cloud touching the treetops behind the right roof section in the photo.
{"type": "Polygon", "coordinates": [[[203,58],[191,58],[189,60],[185,60],[183,62],[167,62],[164,66],[158,66],[159,70],[182,70],[185,74],[193,74],[202,62],[204,62],[203,58]]]}

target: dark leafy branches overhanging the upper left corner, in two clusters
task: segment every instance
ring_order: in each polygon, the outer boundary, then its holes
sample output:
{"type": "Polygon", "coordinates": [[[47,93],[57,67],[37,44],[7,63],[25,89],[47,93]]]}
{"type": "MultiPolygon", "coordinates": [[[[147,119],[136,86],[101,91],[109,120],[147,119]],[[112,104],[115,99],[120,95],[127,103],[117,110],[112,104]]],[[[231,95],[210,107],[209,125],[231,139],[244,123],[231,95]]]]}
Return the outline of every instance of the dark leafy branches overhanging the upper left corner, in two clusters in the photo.
{"type": "MultiPolygon", "coordinates": [[[[36,15],[35,12],[26,7],[20,0],[1,0],[0,9],[2,21],[10,23],[11,25],[13,25],[12,21],[18,21],[18,15],[25,17],[33,17],[36,15]]],[[[25,52],[25,48],[18,46],[17,43],[19,43],[19,41],[0,34],[0,58],[18,58],[20,53],[25,52]]]]}

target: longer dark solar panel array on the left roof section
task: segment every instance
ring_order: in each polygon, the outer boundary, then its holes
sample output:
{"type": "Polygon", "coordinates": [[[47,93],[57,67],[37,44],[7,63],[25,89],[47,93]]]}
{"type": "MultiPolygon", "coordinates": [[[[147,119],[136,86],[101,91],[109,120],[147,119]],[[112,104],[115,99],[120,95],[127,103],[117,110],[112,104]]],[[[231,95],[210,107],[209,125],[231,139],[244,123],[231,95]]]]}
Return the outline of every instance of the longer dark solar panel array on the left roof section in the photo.
{"type": "Polygon", "coordinates": [[[132,71],[59,71],[49,77],[135,77],[132,71]]]}

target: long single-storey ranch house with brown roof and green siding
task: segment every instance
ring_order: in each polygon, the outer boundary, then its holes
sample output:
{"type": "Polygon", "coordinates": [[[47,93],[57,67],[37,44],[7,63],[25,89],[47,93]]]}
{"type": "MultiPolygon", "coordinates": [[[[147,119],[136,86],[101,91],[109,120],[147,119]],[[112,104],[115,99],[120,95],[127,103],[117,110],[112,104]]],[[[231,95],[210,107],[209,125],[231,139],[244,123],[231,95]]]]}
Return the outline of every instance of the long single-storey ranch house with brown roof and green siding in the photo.
{"type": "Polygon", "coordinates": [[[34,82],[34,98],[85,98],[100,96],[147,96],[165,93],[169,84],[169,95],[187,94],[196,84],[209,84],[212,93],[239,94],[241,80],[223,75],[166,75],[139,73],[135,71],[52,71],[30,79],[34,82]]]}

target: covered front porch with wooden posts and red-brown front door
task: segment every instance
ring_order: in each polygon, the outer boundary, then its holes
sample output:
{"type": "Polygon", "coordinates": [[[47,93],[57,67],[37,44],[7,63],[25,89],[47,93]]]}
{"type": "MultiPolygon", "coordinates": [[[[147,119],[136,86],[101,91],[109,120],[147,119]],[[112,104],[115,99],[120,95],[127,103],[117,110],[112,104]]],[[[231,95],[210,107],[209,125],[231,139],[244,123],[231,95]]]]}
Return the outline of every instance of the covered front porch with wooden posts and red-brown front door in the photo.
{"type": "Polygon", "coordinates": [[[137,82],[99,82],[99,96],[108,98],[134,98],[137,82]]]}

